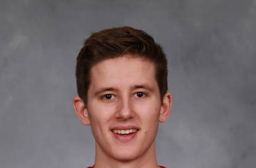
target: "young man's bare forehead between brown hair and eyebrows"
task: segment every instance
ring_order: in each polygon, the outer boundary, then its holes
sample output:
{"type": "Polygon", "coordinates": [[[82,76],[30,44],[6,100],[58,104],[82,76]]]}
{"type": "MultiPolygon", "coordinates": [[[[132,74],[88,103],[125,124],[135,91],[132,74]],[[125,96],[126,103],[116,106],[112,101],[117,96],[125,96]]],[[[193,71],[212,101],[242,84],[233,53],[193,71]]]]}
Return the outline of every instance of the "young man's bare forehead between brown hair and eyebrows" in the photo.
{"type": "Polygon", "coordinates": [[[122,56],[95,64],[91,69],[92,88],[155,85],[154,63],[142,57],[122,56]]]}

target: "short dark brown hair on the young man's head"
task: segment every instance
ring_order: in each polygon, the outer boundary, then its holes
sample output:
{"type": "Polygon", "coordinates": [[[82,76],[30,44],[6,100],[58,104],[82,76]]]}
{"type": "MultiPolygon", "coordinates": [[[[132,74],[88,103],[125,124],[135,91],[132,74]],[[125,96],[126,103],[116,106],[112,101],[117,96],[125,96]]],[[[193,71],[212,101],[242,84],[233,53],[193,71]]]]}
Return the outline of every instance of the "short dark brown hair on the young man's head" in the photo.
{"type": "Polygon", "coordinates": [[[155,65],[155,78],[161,102],[167,91],[167,60],[162,47],[145,31],[131,27],[117,27],[92,33],[77,56],[76,83],[78,96],[87,104],[90,70],[93,65],[125,54],[143,57],[155,65]]]}

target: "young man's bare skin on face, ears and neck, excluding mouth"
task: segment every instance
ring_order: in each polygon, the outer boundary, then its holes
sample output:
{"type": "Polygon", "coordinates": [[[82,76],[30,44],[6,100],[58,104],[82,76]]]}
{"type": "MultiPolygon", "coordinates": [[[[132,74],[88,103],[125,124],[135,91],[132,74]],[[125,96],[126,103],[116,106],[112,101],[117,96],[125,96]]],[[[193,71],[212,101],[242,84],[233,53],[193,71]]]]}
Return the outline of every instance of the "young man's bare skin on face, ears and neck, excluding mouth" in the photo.
{"type": "Polygon", "coordinates": [[[158,167],[155,138],[159,122],[170,115],[172,96],[166,93],[161,104],[154,63],[124,55],[94,65],[90,73],[87,106],[78,96],[73,106],[78,119],[91,125],[94,167],[158,167]],[[140,128],[136,137],[129,142],[117,141],[110,128],[129,124],[140,128]]]}

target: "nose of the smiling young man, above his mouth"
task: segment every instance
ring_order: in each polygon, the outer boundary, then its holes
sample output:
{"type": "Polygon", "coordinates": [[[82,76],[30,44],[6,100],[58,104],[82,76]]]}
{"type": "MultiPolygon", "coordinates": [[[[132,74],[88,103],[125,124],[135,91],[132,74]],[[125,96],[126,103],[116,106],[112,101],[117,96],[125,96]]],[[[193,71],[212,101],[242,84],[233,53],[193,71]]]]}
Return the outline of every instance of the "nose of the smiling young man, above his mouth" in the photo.
{"type": "Polygon", "coordinates": [[[117,119],[127,120],[134,117],[134,111],[129,98],[122,98],[119,102],[119,108],[115,114],[117,119]]]}

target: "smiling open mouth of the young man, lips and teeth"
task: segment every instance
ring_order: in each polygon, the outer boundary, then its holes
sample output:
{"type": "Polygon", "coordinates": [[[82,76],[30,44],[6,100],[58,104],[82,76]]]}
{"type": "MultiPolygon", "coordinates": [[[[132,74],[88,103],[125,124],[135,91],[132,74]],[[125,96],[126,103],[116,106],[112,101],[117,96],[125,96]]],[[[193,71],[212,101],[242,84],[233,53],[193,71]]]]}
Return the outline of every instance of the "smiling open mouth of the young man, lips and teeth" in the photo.
{"type": "Polygon", "coordinates": [[[135,139],[139,129],[138,128],[130,128],[130,129],[113,129],[114,138],[119,142],[129,142],[135,139]]]}

